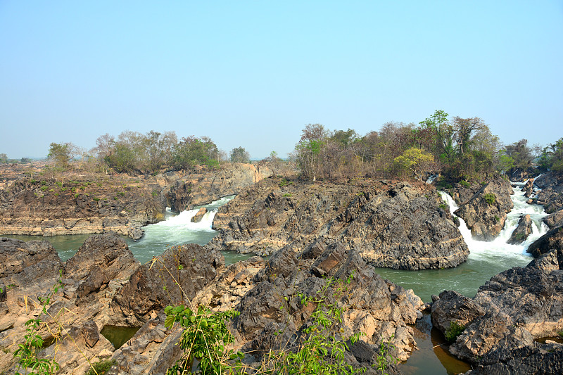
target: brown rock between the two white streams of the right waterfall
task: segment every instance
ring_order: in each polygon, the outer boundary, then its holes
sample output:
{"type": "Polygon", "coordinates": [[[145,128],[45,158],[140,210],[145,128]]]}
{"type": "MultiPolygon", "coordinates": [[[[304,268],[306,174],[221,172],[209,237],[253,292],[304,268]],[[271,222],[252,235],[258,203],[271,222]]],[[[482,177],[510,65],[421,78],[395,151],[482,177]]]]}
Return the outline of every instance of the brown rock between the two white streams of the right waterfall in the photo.
{"type": "Polygon", "coordinates": [[[514,207],[510,198],[514,191],[510,183],[500,177],[491,177],[479,189],[477,187],[472,185],[473,189],[457,189],[453,193],[453,198],[460,205],[455,215],[465,220],[474,239],[493,241],[505,225],[507,212],[514,207]],[[465,200],[467,190],[474,189],[473,195],[465,200]]]}

